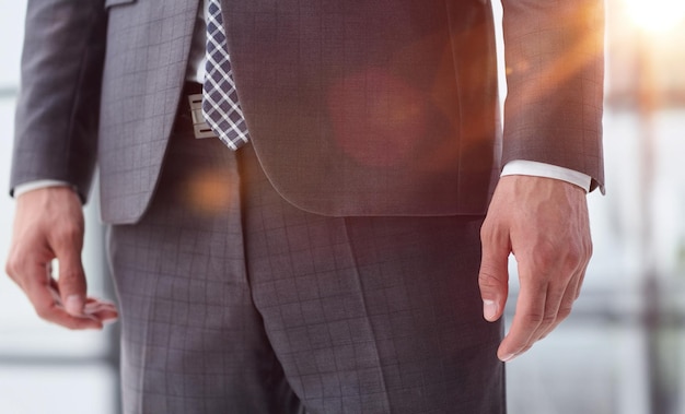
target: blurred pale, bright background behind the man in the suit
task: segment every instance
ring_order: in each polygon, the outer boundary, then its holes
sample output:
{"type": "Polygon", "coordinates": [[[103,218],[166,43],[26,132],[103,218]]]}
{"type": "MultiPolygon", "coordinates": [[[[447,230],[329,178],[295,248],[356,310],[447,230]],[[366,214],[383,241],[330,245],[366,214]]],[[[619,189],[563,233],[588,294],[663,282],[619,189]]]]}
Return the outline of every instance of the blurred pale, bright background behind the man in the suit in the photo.
{"type": "MultiPolygon", "coordinates": [[[[4,186],[25,7],[0,3],[4,186]]],[[[606,9],[607,194],[589,196],[594,258],[571,317],[508,365],[510,414],[685,414],[685,1],[606,9]]],[[[112,298],[96,209],[88,206],[83,259],[91,292],[112,298]]],[[[0,197],[1,269],[12,216],[13,201],[0,197]]],[[[513,305],[515,283],[511,295],[513,305]]],[[[50,326],[0,277],[0,413],[118,413],[117,354],[116,326],[50,326]]]]}

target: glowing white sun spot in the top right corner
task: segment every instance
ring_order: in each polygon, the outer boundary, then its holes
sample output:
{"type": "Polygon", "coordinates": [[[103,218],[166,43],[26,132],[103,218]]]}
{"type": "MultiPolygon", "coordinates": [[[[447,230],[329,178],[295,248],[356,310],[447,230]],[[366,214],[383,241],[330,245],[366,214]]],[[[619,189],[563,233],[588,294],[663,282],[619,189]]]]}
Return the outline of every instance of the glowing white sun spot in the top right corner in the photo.
{"type": "Polygon", "coordinates": [[[634,22],[649,32],[685,24],[685,0],[624,0],[634,22]]]}

